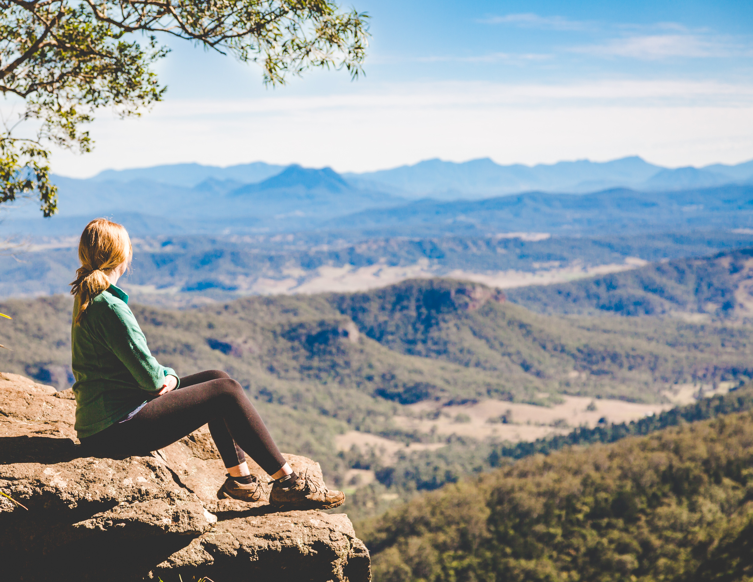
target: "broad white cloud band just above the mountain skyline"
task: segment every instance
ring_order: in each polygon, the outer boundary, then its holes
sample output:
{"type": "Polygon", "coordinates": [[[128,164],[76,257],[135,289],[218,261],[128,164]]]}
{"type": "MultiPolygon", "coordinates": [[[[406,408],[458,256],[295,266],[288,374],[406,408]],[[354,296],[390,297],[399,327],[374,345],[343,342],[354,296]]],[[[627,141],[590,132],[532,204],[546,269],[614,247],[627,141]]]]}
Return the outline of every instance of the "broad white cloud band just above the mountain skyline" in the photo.
{"type": "Polygon", "coordinates": [[[320,96],[173,100],[140,119],[100,117],[93,154],[53,170],[264,160],[367,171],[430,157],[499,163],[608,160],[667,166],[753,158],[753,84],[415,83],[320,96]]]}

